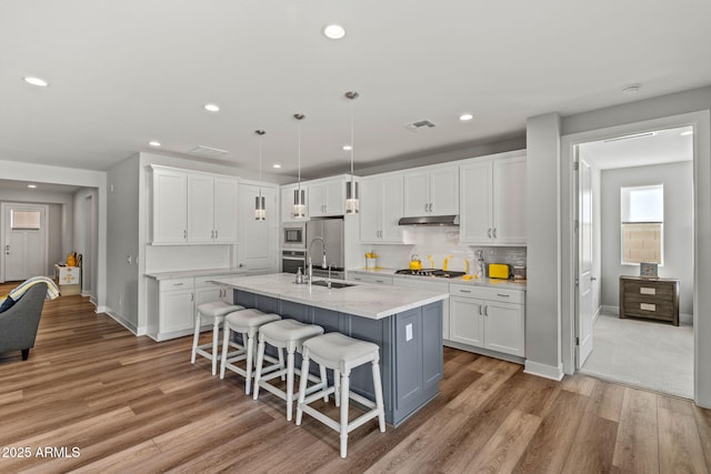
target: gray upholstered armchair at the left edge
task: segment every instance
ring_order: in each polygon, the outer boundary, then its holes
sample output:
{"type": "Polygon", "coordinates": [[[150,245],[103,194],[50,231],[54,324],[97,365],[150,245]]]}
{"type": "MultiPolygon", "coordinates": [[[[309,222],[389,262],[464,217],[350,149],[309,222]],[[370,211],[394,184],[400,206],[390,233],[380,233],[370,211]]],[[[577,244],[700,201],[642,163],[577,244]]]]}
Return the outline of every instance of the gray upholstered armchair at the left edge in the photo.
{"type": "Polygon", "coordinates": [[[47,283],[34,284],[12,307],[0,313],[0,353],[22,351],[22,360],[27,361],[34,346],[46,294],[47,283]]]}

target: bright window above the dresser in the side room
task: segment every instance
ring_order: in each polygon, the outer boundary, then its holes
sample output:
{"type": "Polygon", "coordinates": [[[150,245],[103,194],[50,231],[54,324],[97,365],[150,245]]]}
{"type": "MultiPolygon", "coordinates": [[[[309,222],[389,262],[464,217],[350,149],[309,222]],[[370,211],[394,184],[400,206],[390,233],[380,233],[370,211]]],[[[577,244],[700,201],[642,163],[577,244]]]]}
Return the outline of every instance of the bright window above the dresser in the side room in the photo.
{"type": "Polygon", "coordinates": [[[620,189],[622,264],[663,263],[664,185],[620,189]]]}

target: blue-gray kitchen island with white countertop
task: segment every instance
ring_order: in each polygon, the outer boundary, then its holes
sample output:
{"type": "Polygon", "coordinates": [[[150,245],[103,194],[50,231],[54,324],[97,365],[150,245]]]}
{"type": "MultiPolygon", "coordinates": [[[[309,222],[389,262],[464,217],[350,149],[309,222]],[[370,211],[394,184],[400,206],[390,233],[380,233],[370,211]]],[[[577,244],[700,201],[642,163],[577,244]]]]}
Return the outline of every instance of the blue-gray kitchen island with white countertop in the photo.
{"type": "MultiPolygon", "coordinates": [[[[442,301],[449,293],[368,283],[329,289],[296,284],[290,273],[216,279],[214,283],[234,289],[234,302],[246,307],[378,344],[385,420],[392,425],[402,423],[439,393],[443,371],[442,301]]],[[[313,370],[318,373],[317,367],[313,370]]],[[[368,366],[353,370],[351,390],[374,400],[368,366]]]]}

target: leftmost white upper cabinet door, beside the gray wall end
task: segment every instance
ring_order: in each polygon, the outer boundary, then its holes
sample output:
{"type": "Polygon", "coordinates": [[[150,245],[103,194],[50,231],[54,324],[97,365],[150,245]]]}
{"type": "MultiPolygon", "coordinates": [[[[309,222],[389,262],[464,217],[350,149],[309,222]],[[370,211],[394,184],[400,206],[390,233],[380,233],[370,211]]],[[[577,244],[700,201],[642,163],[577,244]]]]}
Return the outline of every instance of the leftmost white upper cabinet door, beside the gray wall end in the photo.
{"type": "Polygon", "coordinates": [[[174,170],[152,170],[151,235],[161,243],[188,240],[188,174],[174,170]]]}

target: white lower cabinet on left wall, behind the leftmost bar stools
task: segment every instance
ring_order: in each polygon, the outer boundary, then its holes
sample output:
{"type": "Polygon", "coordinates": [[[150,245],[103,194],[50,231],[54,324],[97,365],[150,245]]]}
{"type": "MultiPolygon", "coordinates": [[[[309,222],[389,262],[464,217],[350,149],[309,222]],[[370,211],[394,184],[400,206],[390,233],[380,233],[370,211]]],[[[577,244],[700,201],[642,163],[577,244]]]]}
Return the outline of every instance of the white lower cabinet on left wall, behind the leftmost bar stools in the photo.
{"type": "MultiPolygon", "coordinates": [[[[211,283],[231,276],[237,274],[148,280],[148,335],[156,341],[167,341],[192,334],[200,304],[218,300],[232,303],[229,288],[211,283]]],[[[211,329],[211,322],[202,327],[203,331],[211,329]]]]}

